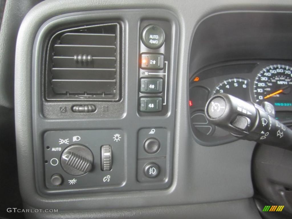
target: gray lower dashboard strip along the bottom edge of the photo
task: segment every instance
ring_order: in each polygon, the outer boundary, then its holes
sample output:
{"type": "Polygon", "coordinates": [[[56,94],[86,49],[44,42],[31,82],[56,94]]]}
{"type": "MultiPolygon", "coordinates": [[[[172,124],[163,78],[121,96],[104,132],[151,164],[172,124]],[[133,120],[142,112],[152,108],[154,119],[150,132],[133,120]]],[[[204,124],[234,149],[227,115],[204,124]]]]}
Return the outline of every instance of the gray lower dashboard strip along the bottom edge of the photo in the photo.
{"type": "MultiPolygon", "coordinates": [[[[31,208],[25,206],[26,208],[31,208]]],[[[34,210],[34,209],[33,209],[34,210]]],[[[54,219],[101,219],[101,218],[139,218],[139,219],[246,219],[260,218],[253,199],[216,202],[210,204],[157,206],[147,208],[120,208],[109,210],[63,211],[55,213],[29,213],[27,218],[54,218],[54,219]]]]}

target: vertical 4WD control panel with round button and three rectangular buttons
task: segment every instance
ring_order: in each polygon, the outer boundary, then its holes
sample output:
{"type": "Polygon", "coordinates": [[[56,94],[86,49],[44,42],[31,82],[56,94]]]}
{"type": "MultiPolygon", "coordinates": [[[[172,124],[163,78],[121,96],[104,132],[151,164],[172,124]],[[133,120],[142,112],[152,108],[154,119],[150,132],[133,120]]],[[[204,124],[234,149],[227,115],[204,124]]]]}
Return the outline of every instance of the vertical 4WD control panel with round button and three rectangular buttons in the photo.
{"type": "Polygon", "coordinates": [[[164,115],[168,112],[170,48],[169,22],[141,22],[138,69],[140,115],[164,115]]]}

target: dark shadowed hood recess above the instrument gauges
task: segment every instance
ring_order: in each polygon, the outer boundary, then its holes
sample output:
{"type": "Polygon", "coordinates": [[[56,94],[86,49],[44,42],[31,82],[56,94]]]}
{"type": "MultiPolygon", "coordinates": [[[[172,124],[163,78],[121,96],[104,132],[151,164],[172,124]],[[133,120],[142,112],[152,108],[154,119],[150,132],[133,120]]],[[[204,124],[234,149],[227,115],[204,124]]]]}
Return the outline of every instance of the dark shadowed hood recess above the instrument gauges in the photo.
{"type": "Polygon", "coordinates": [[[248,12],[242,12],[240,16],[234,13],[209,16],[200,22],[196,30],[190,71],[194,73],[202,67],[226,60],[290,60],[290,18],[290,13],[279,10],[274,13],[258,11],[252,16],[248,12]]]}

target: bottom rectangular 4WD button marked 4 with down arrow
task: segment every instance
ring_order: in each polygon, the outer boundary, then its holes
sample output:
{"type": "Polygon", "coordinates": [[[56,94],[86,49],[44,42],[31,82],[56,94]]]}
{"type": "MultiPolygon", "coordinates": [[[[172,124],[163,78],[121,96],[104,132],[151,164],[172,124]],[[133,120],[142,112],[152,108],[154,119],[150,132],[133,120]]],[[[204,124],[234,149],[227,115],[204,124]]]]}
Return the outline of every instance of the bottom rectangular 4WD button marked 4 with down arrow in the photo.
{"type": "Polygon", "coordinates": [[[161,97],[141,97],[140,111],[141,112],[160,112],[162,109],[161,97]]]}

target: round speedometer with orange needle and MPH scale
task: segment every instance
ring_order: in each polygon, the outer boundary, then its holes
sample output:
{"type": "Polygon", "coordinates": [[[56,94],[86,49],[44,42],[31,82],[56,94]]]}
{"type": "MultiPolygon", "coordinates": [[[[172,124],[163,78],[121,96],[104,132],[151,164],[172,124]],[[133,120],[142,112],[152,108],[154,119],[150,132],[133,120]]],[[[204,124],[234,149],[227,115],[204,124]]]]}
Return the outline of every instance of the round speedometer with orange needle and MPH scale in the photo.
{"type": "Polygon", "coordinates": [[[274,106],[292,106],[292,68],[270,65],[257,74],[254,93],[257,104],[268,101],[274,106]]]}

